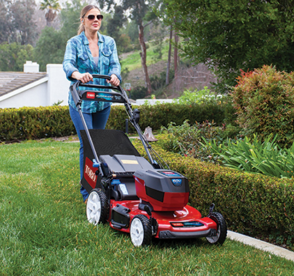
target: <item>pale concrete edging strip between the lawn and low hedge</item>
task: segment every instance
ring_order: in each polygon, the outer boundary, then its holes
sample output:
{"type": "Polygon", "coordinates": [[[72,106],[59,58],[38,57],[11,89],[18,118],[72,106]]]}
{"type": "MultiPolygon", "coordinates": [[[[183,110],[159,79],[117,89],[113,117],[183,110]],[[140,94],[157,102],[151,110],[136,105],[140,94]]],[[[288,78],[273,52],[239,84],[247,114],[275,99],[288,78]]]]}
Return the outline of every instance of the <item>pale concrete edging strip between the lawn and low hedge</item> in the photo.
{"type": "Polygon", "coordinates": [[[288,259],[290,261],[294,261],[294,252],[292,252],[290,250],[286,250],[286,249],[279,247],[277,245],[272,245],[270,243],[266,243],[263,240],[251,238],[251,237],[242,235],[240,233],[235,233],[233,231],[228,231],[227,237],[231,240],[237,240],[240,243],[244,243],[245,245],[251,245],[253,247],[256,247],[259,250],[270,252],[274,255],[281,256],[281,257],[288,259]]]}

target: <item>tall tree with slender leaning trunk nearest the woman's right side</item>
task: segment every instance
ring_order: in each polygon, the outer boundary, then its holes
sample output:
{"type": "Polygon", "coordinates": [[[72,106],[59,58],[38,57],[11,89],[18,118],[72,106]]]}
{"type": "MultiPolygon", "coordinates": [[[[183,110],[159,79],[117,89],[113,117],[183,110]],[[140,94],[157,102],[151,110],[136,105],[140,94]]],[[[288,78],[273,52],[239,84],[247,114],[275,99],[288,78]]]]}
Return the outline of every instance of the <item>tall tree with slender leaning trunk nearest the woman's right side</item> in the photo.
{"type": "MultiPolygon", "coordinates": [[[[148,69],[146,65],[146,44],[144,41],[144,28],[150,24],[148,22],[147,24],[144,24],[144,17],[148,15],[148,11],[152,10],[153,7],[153,2],[155,0],[150,0],[150,1],[144,1],[144,0],[122,0],[121,1],[121,7],[123,8],[124,11],[128,10],[130,11],[129,13],[129,18],[130,20],[133,20],[136,22],[139,30],[139,43],[141,45],[141,66],[144,72],[144,77],[145,77],[145,84],[147,87],[147,93],[148,95],[151,95],[152,89],[151,89],[151,83],[148,75],[148,69]]],[[[107,0],[99,1],[100,6],[104,7],[107,5],[108,10],[110,10],[111,6],[114,6],[114,0],[107,0]]]]}

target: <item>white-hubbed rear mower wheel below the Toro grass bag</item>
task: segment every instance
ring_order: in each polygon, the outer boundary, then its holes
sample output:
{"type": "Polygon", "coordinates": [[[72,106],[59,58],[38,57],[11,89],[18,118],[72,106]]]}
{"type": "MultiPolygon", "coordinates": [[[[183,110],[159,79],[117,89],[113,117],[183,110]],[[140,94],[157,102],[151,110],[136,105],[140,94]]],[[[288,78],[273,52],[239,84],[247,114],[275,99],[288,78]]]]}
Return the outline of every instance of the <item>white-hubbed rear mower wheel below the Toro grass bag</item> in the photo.
{"type": "Polygon", "coordinates": [[[90,192],[86,204],[86,214],[88,222],[94,225],[107,222],[109,204],[105,192],[100,189],[94,189],[90,192]]]}

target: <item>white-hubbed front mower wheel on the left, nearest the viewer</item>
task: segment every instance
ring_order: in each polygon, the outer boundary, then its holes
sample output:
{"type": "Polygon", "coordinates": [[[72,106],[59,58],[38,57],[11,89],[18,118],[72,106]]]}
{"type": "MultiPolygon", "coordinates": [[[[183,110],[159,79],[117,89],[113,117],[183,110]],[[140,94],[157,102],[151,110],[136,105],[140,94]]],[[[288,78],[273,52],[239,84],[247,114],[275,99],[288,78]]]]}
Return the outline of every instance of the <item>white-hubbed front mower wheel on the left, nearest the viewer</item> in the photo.
{"type": "Polygon", "coordinates": [[[130,236],[134,246],[150,245],[152,227],[146,215],[135,215],[133,217],[130,227],[130,236]]]}

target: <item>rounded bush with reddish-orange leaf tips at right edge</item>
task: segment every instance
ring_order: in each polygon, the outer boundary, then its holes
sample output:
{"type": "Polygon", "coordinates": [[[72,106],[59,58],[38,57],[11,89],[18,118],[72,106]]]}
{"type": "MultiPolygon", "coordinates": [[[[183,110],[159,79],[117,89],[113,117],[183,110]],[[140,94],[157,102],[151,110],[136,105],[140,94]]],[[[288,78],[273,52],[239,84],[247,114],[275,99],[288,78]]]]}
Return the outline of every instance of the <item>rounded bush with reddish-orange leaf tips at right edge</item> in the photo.
{"type": "Polygon", "coordinates": [[[291,146],[294,139],[294,72],[263,66],[242,72],[231,94],[237,122],[244,135],[265,139],[277,135],[277,143],[291,146]]]}

